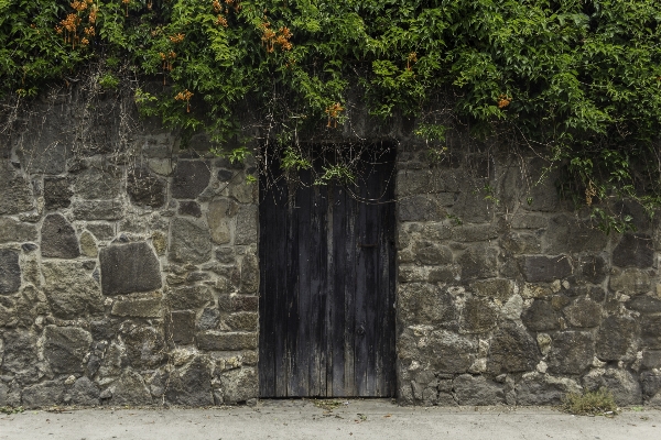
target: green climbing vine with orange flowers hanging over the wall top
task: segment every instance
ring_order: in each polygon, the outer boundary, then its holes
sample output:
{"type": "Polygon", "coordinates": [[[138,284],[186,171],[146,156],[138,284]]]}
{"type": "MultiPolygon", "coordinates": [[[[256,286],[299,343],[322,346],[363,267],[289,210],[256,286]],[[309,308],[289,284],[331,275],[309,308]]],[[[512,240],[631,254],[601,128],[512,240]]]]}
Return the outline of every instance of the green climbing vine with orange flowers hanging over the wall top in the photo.
{"type": "MultiPolygon", "coordinates": [[[[577,202],[652,211],[660,22],[657,0],[0,0],[0,95],[32,98],[89,63],[123,87],[128,65],[144,114],[240,158],[249,108],[293,168],[322,155],[305,133],[333,138],[365,105],[386,127],[414,120],[432,158],[453,130],[507,138],[563,167],[577,202]]],[[[350,177],[354,155],[332,152],[326,169],[350,177]]]]}

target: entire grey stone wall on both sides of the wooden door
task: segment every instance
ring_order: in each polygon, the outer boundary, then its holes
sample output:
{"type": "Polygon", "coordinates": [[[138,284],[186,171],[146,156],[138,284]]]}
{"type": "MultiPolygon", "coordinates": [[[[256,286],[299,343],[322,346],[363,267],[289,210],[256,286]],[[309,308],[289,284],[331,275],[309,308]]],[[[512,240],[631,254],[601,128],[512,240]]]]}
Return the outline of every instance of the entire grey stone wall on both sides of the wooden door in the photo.
{"type": "MultiPolygon", "coordinates": [[[[0,138],[0,406],[258,397],[252,165],[131,106],[63,92],[0,138]]],[[[537,158],[392,138],[400,403],[661,405],[657,223],[605,235],[537,158]]]]}

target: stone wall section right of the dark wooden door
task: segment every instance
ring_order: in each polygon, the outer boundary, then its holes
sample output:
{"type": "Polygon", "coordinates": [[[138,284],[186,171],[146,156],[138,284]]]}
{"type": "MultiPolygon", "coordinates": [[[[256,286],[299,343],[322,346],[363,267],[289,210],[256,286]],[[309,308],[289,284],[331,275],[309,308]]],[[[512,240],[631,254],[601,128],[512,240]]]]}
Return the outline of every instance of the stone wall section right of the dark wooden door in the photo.
{"type": "Polygon", "coordinates": [[[637,231],[606,235],[557,176],[531,183],[539,160],[495,151],[430,166],[400,150],[400,402],[554,405],[606,386],[661,405],[659,228],[619,204],[637,231]]]}

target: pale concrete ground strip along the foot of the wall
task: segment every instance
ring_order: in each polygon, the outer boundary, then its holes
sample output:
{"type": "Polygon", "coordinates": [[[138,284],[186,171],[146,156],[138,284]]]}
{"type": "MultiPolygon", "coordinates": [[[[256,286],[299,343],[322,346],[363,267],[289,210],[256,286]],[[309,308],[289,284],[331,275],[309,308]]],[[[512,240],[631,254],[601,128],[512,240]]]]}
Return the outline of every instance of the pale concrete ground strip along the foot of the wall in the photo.
{"type": "Polygon", "coordinates": [[[382,399],[346,400],[333,410],[317,405],[262,400],[252,408],[28,410],[0,414],[0,439],[661,439],[655,409],[607,418],[552,408],[411,408],[382,399]]]}

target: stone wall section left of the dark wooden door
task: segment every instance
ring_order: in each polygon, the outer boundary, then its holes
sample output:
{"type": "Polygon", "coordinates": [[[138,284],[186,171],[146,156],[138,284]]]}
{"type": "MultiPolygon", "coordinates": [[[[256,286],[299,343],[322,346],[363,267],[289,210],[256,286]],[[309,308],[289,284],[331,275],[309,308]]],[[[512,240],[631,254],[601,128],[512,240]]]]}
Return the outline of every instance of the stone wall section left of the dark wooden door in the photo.
{"type": "Polygon", "coordinates": [[[2,139],[0,406],[250,402],[257,185],[117,102],[37,101],[2,139]]]}

